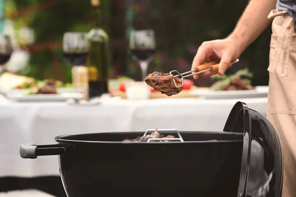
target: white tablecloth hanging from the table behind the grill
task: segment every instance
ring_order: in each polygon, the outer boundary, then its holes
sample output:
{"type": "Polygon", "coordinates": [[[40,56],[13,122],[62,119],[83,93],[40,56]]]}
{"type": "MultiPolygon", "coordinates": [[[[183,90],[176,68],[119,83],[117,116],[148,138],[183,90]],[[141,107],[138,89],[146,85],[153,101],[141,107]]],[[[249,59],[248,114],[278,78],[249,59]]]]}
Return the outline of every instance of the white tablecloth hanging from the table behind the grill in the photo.
{"type": "Polygon", "coordinates": [[[58,156],[22,159],[22,143],[55,144],[57,135],[88,132],[222,131],[238,100],[266,115],[267,98],[118,100],[91,106],[0,102],[0,177],[59,175],[58,156]]]}

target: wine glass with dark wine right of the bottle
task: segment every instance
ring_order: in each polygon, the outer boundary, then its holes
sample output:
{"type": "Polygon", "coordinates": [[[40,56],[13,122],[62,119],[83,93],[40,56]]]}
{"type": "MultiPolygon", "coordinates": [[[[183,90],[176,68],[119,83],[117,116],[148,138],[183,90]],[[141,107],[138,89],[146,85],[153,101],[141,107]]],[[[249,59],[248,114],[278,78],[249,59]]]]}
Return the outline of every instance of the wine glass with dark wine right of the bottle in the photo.
{"type": "Polygon", "coordinates": [[[136,30],[131,32],[130,50],[132,58],[141,66],[142,80],[147,77],[149,63],[154,58],[155,37],[153,30],[136,30]]]}

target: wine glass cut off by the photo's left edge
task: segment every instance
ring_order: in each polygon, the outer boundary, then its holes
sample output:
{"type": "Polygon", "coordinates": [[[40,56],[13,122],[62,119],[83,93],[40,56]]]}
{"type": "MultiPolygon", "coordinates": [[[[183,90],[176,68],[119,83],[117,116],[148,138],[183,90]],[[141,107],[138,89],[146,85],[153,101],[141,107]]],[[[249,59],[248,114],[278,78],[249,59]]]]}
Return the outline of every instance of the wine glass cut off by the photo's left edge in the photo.
{"type": "Polygon", "coordinates": [[[12,43],[9,35],[0,34],[0,75],[3,72],[4,64],[10,59],[12,43]]]}

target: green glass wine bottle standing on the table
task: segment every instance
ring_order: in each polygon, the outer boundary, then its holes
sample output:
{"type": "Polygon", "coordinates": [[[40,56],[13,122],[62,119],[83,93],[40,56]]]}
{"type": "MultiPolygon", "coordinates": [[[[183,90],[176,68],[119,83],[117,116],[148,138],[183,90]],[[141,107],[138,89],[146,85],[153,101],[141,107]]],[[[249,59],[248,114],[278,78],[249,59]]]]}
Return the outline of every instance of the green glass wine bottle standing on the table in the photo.
{"type": "Polygon", "coordinates": [[[100,0],[91,0],[91,30],[88,33],[88,97],[108,93],[109,36],[101,28],[100,0]]]}

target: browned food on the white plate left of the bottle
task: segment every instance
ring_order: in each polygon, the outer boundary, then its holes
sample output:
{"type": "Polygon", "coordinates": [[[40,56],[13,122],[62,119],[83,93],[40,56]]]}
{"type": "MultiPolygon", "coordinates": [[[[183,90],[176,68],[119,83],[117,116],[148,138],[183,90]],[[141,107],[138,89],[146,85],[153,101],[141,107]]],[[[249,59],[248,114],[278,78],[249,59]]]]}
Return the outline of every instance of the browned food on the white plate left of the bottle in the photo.
{"type": "Polygon", "coordinates": [[[36,84],[31,85],[30,95],[37,94],[57,94],[57,85],[56,80],[48,79],[45,80],[42,86],[37,86],[36,84]]]}

